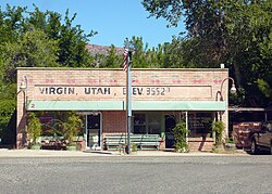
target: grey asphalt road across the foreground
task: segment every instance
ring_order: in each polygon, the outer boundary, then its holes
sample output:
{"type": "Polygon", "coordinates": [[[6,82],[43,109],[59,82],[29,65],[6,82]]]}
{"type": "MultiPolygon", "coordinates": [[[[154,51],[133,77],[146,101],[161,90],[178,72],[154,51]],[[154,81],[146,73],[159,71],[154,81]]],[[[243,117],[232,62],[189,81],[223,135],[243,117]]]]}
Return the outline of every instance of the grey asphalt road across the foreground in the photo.
{"type": "Polygon", "coordinates": [[[272,193],[272,156],[1,157],[0,193],[272,193]]]}

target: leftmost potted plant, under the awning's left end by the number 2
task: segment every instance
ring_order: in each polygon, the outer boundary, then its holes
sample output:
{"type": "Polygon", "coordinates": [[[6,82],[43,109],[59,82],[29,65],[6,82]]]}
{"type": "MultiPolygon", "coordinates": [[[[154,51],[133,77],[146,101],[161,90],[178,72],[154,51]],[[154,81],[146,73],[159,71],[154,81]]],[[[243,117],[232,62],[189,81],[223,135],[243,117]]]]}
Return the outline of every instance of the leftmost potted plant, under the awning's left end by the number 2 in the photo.
{"type": "Polygon", "coordinates": [[[36,117],[35,113],[29,113],[27,115],[27,121],[28,125],[26,132],[30,138],[29,147],[39,150],[40,145],[37,143],[37,138],[41,134],[41,124],[39,121],[39,118],[36,117]]]}

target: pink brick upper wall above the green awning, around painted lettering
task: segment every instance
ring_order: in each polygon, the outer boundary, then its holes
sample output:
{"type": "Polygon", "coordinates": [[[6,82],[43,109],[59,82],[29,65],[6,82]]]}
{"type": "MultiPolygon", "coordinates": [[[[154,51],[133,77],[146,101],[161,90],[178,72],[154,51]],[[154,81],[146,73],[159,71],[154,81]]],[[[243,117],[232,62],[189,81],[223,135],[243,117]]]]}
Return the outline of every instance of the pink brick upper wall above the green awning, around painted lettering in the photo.
{"type": "MultiPolygon", "coordinates": [[[[124,94],[112,92],[111,95],[87,95],[83,87],[110,87],[112,91],[122,90],[126,85],[122,69],[37,69],[18,70],[17,81],[27,77],[28,100],[66,100],[66,101],[123,101],[124,94]],[[73,87],[74,94],[45,94],[48,87],[73,87]],[[81,89],[81,90],[79,90],[81,89]]],[[[133,95],[133,100],[153,101],[215,101],[223,78],[228,77],[227,69],[133,69],[133,87],[170,87],[165,95],[133,95]]],[[[224,88],[226,89],[227,82],[224,88]]],[[[223,96],[226,91],[223,90],[223,96]]],[[[225,99],[225,98],[224,98],[225,99]]]]}

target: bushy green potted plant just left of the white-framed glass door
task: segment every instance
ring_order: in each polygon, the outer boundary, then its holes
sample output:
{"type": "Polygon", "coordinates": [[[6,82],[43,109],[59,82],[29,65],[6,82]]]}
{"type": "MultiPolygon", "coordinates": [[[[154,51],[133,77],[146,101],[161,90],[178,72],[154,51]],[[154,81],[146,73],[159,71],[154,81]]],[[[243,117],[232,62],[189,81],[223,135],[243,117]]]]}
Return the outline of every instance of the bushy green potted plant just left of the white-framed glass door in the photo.
{"type": "Polygon", "coordinates": [[[70,151],[76,150],[74,138],[78,134],[82,124],[82,119],[75,114],[70,115],[67,121],[63,122],[63,135],[67,140],[67,150],[70,151]]]}

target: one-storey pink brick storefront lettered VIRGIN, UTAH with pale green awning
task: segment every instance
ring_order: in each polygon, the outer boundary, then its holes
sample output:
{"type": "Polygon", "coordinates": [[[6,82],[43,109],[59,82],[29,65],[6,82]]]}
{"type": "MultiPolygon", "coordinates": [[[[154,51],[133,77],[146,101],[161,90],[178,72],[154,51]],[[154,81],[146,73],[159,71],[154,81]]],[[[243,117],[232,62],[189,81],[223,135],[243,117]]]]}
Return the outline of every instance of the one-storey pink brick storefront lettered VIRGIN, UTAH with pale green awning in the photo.
{"type": "MultiPolygon", "coordinates": [[[[209,126],[217,114],[222,115],[225,135],[228,132],[227,77],[226,68],[132,69],[132,133],[160,134],[161,147],[171,148],[171,129],[185,118],[191,150],[211,148],[209,126]]],[[[40,120],[50,120],[55,112],[76,111],[86,124],[86,148],[102,147],[104,135],[127,131],[125,106],[122,69],[18,68],[16,146],[27,142],[27,112],[44,113],[40,120]]]]}

